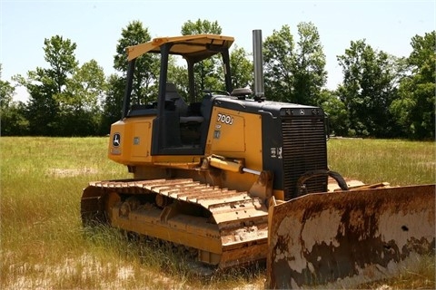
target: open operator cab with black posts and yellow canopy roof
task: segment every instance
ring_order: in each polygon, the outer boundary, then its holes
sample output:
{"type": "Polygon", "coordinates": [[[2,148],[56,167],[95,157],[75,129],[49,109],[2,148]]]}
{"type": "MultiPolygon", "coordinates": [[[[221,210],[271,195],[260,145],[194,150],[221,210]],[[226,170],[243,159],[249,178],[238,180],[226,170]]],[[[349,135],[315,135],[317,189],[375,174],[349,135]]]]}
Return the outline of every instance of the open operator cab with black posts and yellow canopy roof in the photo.
{"type": "Polygon", "coordinates": [[[126,49],[129,67],[123,119],[156,116],[152,155],[203,155],[213,99],[216,96],[228,97],[232,92],[229,57],[232,43],[233,37],[196,34],[155,38],[126,49]],[[153,74],[135,71],[135,63],[143,57],[160,63],[158,78],[149,83],[150,90],[145,93],[154,95],[152,100],[138,93],[144,87],[141,83],[144,79],[138,76],[153,74]],[[181,67],[178,65],[183,62],[184,72],[179,72],[181,67]],[[215,67],[213,62],[221,62],[223,67],[208,71],[208,68],[215,67]],[[177,73],[169,72],[169,63],[177,64],[177,73]],[[208,84],[204,80],[211,76],[215,78],[212,83],[218,87],[207,91],[204,87],[208,84]],[[183,79],[187,82],[180,81],[183,79]]]}

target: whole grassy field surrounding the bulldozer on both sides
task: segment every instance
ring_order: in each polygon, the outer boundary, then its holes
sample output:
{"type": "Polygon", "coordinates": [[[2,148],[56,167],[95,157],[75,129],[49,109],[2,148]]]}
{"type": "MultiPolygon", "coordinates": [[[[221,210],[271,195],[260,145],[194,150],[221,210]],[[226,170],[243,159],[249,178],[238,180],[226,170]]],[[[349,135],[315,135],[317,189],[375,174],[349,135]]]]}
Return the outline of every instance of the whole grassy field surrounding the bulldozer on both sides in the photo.
{"type": "MultiPolygon", "coordinates": [[[[80,198],[89,181],[124,179],[106,158],[107,138],[0,138],[1,289],[262,289],[263,266],[198,278],[165,248],[102,228],[81,227],[80,198]]],[[[331,169],[366,183],[434,183],[434,142],[330,140],[331,169]]],[[[434,260],[420,273],[368,285],[434,288],[434,260]],[[401,281],[401,283],[400,283],[401,281]],[[419,284],[417,281],[424,281],[419,284]]]]}

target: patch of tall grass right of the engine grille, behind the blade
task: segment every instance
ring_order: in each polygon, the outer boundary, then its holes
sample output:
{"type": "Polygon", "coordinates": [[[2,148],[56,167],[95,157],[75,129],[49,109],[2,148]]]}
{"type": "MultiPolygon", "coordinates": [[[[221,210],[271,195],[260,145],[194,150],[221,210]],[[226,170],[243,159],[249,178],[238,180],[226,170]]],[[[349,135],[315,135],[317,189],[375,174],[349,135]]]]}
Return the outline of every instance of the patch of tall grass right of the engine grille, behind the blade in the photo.
{"type": "Polygon", "coordinates": [[[391,186],[432,184],[436,180],[434,142],[408,140],[329,140],[332,170],[365,183],[391,186]]]}

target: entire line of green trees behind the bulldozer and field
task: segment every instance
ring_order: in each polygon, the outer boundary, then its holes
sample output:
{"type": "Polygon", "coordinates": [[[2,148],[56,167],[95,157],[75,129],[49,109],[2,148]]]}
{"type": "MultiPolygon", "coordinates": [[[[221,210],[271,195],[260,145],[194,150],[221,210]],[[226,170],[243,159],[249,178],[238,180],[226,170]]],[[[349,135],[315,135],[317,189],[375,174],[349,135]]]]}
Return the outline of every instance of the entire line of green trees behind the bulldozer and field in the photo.
{"type": "MultiPolygon", "coordinates": [[[[324,109],[333,134],[349,137],[434,140],[435,31],[411,38],[412,52],[397,57],[372,48],[365,39],[351,41],[337,61],[343,79],[335,90],[325,88],[326,57],[317,27],[300,23],[273,30],[263,40],[265,97],[268,100],[316,105],[324,109]]],[[[198,19],[183,24],[181,34],[221,34],[220,25],[198,19]]],[[[1,135],[96,136],[109,132],[121,117],[127,73],[124,48],[151,40],[147,27],[133,21],[116,43],[114,69],[104,75],[94,60],[76,60],[76,43],[61,35],[45,39],[46,68],[36,67],[12,81],[29,93],[27,102],[14,102],[15,87],[0,81],[1,135]]],[[[233,87],[253,87],[253,61],[233,45],[233,87]]],[[[133,98],[154,102],[159,74],[158,55],[145,54],[136,62],[133,98]]],[[[196,68],[201,89],[220,90],[213,76],[222,70],[216,59],[196,68]]],[[[1,76],[1,64],[0,64],[1,76]]],[[[168,78],[187,96],[187,75],[171,60],[168,78]]],[[[201,90],[200,90],[201,91],[201,90]]]]}

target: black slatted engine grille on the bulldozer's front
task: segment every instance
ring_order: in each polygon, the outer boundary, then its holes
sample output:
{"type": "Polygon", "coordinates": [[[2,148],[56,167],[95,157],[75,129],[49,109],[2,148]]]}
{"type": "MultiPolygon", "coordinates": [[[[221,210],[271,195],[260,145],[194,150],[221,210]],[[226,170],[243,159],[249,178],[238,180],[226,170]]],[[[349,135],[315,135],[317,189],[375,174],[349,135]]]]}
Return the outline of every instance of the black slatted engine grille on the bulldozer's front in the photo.
{"type": "MultiPolygon", "coordinates": [[[[324,122],[316,117],[282,118],[283,190],[285,200],[296,198],[296,182],[306,172],[327,169],[324,122]]],[[[327,190],[327,177],[305,183],[305,193],[327,190]]]]}

